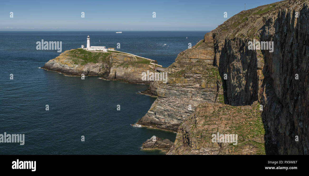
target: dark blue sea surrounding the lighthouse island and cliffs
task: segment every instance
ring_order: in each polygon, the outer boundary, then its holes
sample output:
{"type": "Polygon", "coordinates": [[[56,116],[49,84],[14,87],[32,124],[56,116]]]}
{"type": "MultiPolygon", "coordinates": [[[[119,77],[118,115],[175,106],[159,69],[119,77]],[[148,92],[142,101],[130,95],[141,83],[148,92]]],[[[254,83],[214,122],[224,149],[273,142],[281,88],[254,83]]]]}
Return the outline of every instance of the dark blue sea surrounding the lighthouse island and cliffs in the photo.
{"type": "Polygon", "coordinates": [[[60,53],[36,50],[36,42],[62,41],[63,52],[86,46],[89,35],[92,46],[117,48],[120,43],[118,51],[168,67],[205,33],[0,32],[0,134],[25,134],[24,145],[0,143],[0,154],[163,154],[142,151],[142,143],[153,135],[174,141],[176,133],[130,125],[156,99],[138,94],[148,85],[96,76],[82,80],[40,69],[60,53]]]}

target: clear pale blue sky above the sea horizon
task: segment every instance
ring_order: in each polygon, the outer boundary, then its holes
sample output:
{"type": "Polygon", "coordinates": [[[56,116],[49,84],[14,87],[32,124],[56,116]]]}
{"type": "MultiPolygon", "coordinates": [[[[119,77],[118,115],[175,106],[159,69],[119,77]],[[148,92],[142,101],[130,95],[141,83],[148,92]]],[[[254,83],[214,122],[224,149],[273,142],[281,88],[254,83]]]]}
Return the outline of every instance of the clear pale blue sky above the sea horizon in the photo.
{"type": "Polygon", "coordinates": [[[1,1],[0,31],[211,31],[243,11],[244,4],[248,10],[273,2],[277,0],[1,1]]]}

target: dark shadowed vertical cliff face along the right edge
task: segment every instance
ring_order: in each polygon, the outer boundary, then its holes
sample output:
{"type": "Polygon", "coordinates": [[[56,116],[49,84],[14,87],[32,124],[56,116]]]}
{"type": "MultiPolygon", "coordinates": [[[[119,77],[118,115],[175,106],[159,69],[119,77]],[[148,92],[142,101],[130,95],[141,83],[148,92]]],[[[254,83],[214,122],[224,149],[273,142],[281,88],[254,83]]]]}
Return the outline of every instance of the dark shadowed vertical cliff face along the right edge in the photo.
{"type": "Polygon", "coordinates": [[[308,4],[296,3],[268,17],[262,31],[261,39],[274,41],[275,48],[265,54],[263,73],[267,79],[261,94],[263,118],[270,131],[266,136],[269,153],[309,154],[308,4]]]}

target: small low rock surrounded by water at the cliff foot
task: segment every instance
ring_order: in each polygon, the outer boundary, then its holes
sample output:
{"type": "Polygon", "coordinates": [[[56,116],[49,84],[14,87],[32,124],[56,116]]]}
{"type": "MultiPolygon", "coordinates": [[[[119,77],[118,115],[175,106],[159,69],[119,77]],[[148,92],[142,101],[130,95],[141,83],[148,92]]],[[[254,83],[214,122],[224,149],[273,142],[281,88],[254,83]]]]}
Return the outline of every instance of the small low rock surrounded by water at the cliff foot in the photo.
{"type": "Polygon", "coordinates": [[[150,139],[147,139],[143,143],[142,149],[144,150],[158,149],[162,150],[162,152],[167,152],[168,149],[170,149],[173,144],[174,143],[168,139],[162,140],[161,138],[152,136],[150,139]]]}

